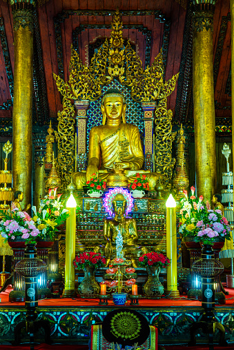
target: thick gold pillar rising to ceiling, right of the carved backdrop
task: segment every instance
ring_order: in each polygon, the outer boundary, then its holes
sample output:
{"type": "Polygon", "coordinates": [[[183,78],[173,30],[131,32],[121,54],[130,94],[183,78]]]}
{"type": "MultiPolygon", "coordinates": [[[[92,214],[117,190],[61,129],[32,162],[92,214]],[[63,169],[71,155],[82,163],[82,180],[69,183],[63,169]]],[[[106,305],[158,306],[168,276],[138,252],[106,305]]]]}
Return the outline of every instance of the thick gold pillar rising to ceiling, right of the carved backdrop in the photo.
{"type": "Polygon", "coordinates": [[[215,0],[193,0],[193,103],[198,196],[216,187],[213,12],[215,0]],[[199,4],[198,4],[199,2],[199,4]]]}

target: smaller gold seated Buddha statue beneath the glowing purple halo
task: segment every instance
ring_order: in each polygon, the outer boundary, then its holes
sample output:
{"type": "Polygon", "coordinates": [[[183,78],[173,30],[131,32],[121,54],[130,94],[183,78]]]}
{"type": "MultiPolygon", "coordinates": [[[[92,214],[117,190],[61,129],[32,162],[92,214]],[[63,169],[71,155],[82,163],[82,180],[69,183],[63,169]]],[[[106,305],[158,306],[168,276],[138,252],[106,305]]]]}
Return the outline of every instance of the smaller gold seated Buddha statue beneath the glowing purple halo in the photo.
{"type": "Polygon", "coordinates": [[[105,243],[95,247],[95,251],[103,251],[106,256],[106,265],[110,263],[110,259],[116,258],[116,238],[120,232],[123,238],[124,258],[131,260],[133,267],[137,267],[139,256],[147,252],[145,247],[137,245],[137,223],[135,218],[126,216],[126,199],[123,194],[116,194],[113,199],[114,217],[104,220],[104,240],[105,243]]]}

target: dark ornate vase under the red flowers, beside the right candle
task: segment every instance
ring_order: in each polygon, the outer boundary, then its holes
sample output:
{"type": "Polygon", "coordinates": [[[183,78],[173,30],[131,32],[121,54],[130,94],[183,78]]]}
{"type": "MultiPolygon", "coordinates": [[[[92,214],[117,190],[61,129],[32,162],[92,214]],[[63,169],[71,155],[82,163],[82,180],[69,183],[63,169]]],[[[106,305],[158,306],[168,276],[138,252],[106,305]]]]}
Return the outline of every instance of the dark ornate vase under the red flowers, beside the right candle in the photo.
{"type": "Polygon", "coordinates": [[[146,269],[148,272],[148,280],[143,286],[144,294],[150,299],[160,299],[162,294],[164,294],[164,287],[159,281],[161,268],[157,266],[149,266],[146,267],[146,269]]]}

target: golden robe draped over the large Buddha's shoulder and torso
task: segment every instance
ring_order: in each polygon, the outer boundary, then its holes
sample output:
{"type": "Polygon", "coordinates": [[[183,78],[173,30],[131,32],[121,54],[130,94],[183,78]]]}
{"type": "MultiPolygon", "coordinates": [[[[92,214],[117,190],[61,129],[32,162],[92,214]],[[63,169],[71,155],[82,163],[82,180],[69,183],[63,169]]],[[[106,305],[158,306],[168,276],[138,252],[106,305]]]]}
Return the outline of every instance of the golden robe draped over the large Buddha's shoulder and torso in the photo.
{"type": "Polygon", "coordinates": [[[90,131],[90,149],[88,158],[98,158],[101,155],[101,168],[113,168],[113,163],[129,161],[135,169],[142,169],[144,154],[137,126],[120,124],[118,129],[106,136],[101,130],[105,125],[92,127],[90,131]]]}

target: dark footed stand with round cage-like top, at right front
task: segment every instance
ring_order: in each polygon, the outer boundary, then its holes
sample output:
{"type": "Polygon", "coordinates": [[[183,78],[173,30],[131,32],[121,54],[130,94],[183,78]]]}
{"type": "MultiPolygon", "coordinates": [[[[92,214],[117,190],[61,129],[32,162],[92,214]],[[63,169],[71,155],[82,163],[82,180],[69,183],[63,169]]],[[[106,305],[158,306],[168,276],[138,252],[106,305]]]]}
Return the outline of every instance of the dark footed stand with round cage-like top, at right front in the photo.
{"type": "Polygon", "coordinates": [[[202,331],[208,334],[208,346],[209,350],[214,349],[213,336],[215,329],[220,331],[220,345],[225,346],[225,329],[220,322],[216,322],[213,309],[215,307],[215,290],[214,290],[214,278],[219,276],[224,271],[224,265],[220,261],[215,260],[214,251],[211,245],[204,245],[202,248],[201,259],[195,261],[192,267],[195,274],[202,277],[202,307],[204,313],[202,320],[195,322],[191,327],[191,341],[188,343],[188,347],[193,347],[196,344],[195,331],[202,329],[202,331]]]}

